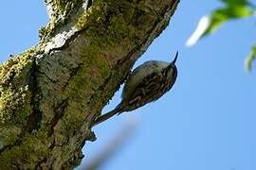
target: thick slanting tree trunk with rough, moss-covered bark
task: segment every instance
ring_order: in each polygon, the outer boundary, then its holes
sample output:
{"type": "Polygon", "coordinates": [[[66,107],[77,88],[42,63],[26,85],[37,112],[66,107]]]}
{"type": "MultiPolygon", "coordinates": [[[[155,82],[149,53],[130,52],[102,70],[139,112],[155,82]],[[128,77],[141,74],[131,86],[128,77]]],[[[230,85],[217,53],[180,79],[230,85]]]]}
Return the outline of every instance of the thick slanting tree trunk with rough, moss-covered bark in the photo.
{"type": "Polygon", "coordinates": [[[71,169],[92,121],[179,0],[46,0],[41,41],[0,66],[0,169],[71,169]]]}

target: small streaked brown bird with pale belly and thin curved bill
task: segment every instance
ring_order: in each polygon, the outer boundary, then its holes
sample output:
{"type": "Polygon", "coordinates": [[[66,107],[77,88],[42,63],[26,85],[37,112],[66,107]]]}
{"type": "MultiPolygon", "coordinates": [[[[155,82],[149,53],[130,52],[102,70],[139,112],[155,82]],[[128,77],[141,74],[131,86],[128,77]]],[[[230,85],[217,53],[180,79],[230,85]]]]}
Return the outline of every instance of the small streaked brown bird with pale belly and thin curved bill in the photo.
{"type": "Polygon", "coordinates": [[[92,127],[124,111],[137,110],[150,102],[154,102],[174,86],[177,77],[175,66],[178,51],[174,60],[165,62],[149,60],[139,65],[128,77],[121,94],[121,101],[114,109],[97,117],[92,127]]]}

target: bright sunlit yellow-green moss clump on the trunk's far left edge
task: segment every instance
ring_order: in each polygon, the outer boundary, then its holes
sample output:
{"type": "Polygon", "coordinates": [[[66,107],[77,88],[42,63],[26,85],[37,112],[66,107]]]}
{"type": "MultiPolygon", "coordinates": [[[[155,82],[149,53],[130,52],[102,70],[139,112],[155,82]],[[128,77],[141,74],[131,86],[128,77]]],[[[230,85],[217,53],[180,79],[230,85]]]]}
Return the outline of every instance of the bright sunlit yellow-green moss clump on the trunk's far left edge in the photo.
{"type": "Polygon", "coordinates": [[[32,113],[31,74],[36,53],[31,48],[0,65],[0,136],[4,146],[18,139],[32,113]]]}

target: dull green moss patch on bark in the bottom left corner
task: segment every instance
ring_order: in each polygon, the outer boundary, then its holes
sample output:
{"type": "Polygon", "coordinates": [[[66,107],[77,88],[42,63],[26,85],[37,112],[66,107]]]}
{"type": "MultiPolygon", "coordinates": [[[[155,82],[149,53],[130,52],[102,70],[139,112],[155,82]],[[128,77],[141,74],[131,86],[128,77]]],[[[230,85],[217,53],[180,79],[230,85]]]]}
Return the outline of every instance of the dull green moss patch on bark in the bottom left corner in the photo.
{"type": "Polygon", "coordinates": [[[24,141],[12,146],[0,155],[0,169],[36,169],[50,154],[47,145],[50,141],[46,128],[32,134],[24,134],[24,141]]]}

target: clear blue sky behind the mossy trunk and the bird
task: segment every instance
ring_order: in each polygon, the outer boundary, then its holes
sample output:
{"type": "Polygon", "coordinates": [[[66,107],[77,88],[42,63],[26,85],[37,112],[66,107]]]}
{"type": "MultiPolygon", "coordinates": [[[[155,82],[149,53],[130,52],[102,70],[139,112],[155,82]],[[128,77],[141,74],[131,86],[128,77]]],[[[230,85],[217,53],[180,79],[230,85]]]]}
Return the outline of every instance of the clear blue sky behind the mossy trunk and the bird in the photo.
{"type": "MultiPolygon", "coordinates": [[[[43,2],[2,2],[0,62],[38,42],[38,29],[47,22],[43,2]]],[[[244,68],[256,43],[255,18],[229,22],[195,46],[185,46],[200,17],[220,6],[217,0],[181,0],[171,25],[136,63],[171,61],[179,50],[174,88],[155,103],[94,127],[98,140],[87,143],[85,159],[137,118],[134,136],[101,169],[256,169],[256,67],[252,73],[244,68]]],[[[119,94],[103,112],[119,103],[119,94]]]]}

